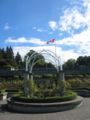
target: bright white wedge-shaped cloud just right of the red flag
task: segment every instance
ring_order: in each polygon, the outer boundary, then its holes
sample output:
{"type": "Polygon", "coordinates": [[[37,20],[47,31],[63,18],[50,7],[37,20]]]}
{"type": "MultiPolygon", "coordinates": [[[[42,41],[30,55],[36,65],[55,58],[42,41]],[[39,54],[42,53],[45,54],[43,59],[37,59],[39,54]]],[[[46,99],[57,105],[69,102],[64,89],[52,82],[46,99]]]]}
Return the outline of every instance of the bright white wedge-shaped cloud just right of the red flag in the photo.
{"type": "Polygon", "coordinates": [[[75,34],[72,37],[65,38],[63,40],[58,40],[57,44],[61,45],[74,45],[74,46],[83,46],[85,44],[90,45],[90,30],[83,31],[82,33],[75,34]]]}

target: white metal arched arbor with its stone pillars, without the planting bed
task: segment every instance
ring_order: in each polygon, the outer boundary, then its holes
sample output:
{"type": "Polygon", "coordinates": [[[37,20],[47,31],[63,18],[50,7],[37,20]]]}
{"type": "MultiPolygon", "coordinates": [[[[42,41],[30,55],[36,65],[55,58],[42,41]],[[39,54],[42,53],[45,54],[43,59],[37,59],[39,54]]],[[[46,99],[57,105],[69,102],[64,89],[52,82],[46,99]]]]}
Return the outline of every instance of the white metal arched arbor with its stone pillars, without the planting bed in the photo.
{"type": "Polygon", "coordinates": [[[39,52],[39,54],[34,52],[30,56],[29,55],[26,56],[26,66],[25,66],[26,74],[25,74],[25,80],[24,80],[24,93],[25,93],[25,95],[26,96],[30,95],[28,81],[33,80],[33,68],[34,68],[34,66],[39,61],[44,60],[43,56],[40,56],[40,58],[37,59],[39,55],[43,55],[45,57],[46,61],[51,62],[55,66],[57,80],[61,81],[61,86],[62,86],[60,94],[63,95],[64,94],[64,73],[62,70],[60,57],[58,57],[54,52],[49,51],[49,50],[42,50],[39,52]]]}

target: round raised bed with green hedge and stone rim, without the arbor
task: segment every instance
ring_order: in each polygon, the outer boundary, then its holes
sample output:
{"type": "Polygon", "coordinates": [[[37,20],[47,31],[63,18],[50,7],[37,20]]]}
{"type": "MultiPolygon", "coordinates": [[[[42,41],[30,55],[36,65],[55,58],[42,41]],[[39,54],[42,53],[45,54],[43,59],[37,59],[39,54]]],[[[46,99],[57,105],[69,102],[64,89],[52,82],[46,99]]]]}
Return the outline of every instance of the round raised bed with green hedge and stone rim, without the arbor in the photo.
{"type": "Polygon", "coordinates": [[[46,98],[27,98],[23,95],[13,96],[8,99],[8,108],[16,112],[46,113],[57,112],[75,108],[82,102],[74,92],[67,92],[64,96],[46,98]]]}

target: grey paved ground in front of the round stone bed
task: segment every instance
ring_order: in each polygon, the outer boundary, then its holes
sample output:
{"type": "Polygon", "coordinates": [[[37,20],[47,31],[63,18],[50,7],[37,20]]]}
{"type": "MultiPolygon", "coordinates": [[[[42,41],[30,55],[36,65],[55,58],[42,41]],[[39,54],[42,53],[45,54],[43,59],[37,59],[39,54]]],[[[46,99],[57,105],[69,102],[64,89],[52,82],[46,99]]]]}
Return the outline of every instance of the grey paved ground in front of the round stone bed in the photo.
{"type": "MultiPolygon", "coordinates": [[[[5,104],[5,101],[0,101],[0,106],[2,104],[5,104]]],[[[90,120],[90,98],[84,98],[83,104],[73,110],[56,113],[11,113],[0,107],[0,120],[90,120]]]]}

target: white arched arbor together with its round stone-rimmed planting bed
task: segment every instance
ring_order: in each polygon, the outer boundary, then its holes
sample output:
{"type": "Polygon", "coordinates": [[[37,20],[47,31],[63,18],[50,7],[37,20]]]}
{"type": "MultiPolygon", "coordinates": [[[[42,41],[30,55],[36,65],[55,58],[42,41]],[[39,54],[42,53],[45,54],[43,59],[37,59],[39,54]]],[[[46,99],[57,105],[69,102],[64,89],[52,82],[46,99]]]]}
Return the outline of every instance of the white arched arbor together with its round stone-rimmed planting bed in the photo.
{"type": "MultiPolygon", "coordinates": [[[[52,73],[52,72],[51,72],[52,73]]],[[[43,112],[57,112],[75,108],[82,102],[82,98],[78,97],[76,93],[65,91],[64,89],[64,72],[62,69],[60,57],[57,57],[52,51],[42,50],[38,54],[33,52],[26,56],[25,66],[25,79],[24,79],[24,95],[13,96],[8,99],[8,108],[17,112],[25,113],[43,113],[43,112]],[[33,68],[39,62],[44,60],[50,61],[54,64],[56,69],[57,86],[54,89],[49,89],[46,97],[41,96],[44,94],[45,89],[33,95],[33,68]],[[39,59],[37,59],[39,57],[39,59]],[[57,94],[58,93],[58,94],[57,94]]]]}

